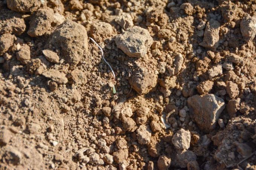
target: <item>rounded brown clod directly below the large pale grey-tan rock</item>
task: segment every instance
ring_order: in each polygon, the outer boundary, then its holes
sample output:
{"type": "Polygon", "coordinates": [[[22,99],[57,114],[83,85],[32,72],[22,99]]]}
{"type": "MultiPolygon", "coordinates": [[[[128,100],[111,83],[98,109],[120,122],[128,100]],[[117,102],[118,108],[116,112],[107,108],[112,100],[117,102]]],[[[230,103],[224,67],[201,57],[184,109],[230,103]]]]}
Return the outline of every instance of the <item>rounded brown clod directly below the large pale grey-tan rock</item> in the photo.
{"type": "Polygon", "coordinates": [[[129,83],[140,95],[146,94],[156,86],[157,75],[153,70],[140,68],[139,71],[133,73],[129,79],[129,83]]]}

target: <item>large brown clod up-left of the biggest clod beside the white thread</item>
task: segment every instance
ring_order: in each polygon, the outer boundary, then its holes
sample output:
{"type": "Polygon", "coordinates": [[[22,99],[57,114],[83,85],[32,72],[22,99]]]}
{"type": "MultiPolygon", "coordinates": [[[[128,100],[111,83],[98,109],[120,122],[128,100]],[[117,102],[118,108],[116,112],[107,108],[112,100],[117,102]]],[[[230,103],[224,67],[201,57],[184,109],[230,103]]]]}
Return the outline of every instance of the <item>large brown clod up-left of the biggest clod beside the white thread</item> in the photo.
{"type": "Polygon", "coordinates": [[[52,29],[53,20],[54,14],[51,8],[38,9],[32,15],[27,34],[32,37],[44,35],[52,29]]]}

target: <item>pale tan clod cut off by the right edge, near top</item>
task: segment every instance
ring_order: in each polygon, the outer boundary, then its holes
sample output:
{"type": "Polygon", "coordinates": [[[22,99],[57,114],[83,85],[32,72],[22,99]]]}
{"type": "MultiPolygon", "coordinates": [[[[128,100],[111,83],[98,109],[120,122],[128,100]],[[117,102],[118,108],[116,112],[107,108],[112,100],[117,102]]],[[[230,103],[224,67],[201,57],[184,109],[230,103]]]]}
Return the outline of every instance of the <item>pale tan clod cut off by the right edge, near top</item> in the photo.
{"type": "Polygon", "coordinates": [[[245,15],[241,20],[240,29],[245,41],[251,41],[256,35],[256,17],[245,15]]]}

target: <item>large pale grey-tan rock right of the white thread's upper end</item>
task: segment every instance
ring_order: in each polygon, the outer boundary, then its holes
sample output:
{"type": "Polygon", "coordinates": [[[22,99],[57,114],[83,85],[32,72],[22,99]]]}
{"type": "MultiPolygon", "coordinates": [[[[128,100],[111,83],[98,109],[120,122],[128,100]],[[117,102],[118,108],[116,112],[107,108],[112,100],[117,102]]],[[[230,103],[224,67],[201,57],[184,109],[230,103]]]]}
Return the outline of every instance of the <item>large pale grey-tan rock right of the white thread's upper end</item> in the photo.
{"type": "Polygon", "coordinates": [[[153,43],[148,30],[139,26],[128,28],[116,36],[116,45],[129,57],[143,57],[153,43]]]}

